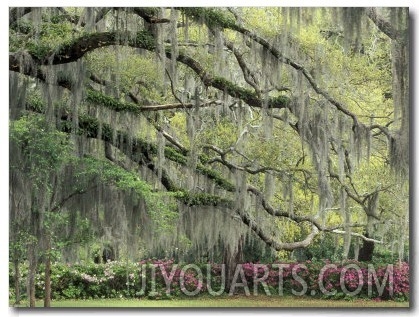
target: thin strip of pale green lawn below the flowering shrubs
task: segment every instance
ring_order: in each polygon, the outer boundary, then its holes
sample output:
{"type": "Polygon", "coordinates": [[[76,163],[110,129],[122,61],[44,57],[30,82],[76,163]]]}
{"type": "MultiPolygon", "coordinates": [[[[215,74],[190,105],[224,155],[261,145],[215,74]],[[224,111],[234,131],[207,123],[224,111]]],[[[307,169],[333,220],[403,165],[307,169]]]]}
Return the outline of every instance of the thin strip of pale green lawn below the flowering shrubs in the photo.
{"type": "MultiPolygon", "coordinates": [[[[24,305],[23,305],[24,306],[24,305]]],[[[43,302],[38,301],[42,307],[43,302]]],[[[325,300],[290,296],[218,296],[173,300],[101,299],[52,301],[52,307],[409,307],[409,302],[325,300]]],[[[21,306],[22,307],[22,306],[21,306]]]]}

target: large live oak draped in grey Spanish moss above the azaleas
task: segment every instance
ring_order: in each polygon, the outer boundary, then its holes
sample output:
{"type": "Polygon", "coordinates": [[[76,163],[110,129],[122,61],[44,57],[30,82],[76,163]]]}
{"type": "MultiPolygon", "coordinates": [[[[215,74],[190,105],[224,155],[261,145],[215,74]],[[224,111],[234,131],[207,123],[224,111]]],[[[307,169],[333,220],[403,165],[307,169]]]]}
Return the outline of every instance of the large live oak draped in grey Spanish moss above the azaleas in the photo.
{"type": "MultiPolygon", "coordinates": [[[[232,274],[246,241],[333,234],[343,258],[377,244],[404,258],[408,22],[407,8],[10,8],[11,125],[40,116],[67,136],[78,163],[51,171],[67,234],[88,219],[126,257],[218,254],[232,274]]],[[[20,145],[11,165],[37,166],[20,145]]],[[[11,201],[33,204],[19,182],[35,188],[19,174],[11,201]]]]}

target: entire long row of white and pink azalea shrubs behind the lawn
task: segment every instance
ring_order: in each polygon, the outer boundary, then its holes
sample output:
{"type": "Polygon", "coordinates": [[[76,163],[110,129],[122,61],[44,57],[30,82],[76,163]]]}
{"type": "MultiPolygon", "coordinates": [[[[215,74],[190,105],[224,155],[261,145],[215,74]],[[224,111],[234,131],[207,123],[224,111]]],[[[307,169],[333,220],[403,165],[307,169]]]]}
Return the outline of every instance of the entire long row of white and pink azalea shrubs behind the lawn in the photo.
{"type": "MultiPolygon", "coordinates": [[[[36,296],[42,298],[43,268],[36,275],[36,296]]],[[[22,267],[24,294],[27,269],[22,267]]],[[[409,300],[409,265],[398,263],[375,267],[372,264],[345,263],[243,263],[230,272],[221,264],[176,264],[173,260],[145,260],[139,263],[106,264],[54,263],[52,266],[53,299],[96,298],[171,298],[244,292],[254,295],[306,295],[326,298],[369,298],[374,300],[409,300]]],[[[10,287],[14,285],[9,270],[10,287]]],[[[11,292],[12,293],[12,292],[11,292]]]]}

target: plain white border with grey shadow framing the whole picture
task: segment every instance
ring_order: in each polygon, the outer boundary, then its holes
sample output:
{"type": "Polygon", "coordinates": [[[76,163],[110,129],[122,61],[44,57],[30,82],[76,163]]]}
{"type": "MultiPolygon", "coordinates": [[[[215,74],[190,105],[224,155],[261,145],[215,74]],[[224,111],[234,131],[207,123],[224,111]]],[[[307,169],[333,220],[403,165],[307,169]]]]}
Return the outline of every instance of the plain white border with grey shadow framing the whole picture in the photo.
{"type": "MultiPolygon", "coordinates": [[[[1,57],[3,60],[3,63],[1,63],[1,83],[2,85],[0,87],[2,87],[1,92],[1,96],[2,96],[2,103],[0,106],[0,137],[1,137],[1,145],[2,145],[2,155],[3,155],[3,159],[2,159],[2,163],[0,164],[0,194],[1,194],[1,198],[0,198],[0,202],[2,203],[2,207],[0,208],[0,212],[1,212],[1,228],[0,228],[0,234],[1,234],[1,240],[0,240],[0,248],[1,248],[1,260],[0,260],[0,281],[2,282],[1,284],[1,289],[0,289],[0,309],[1,309],[1,316],[4,315],[30,315],[30,316],[44,316],[45,314],[47,315],[58,315],[58,314],[64,314],[64,315],[68,315],[68,316],[90,316],[92,313],[93,314],[100,314],[100,315],[104,315],[104,316],[113,316],[113,315],[138,315],[141,314],[142,316],[156,316],[156,315],[166,315],[166,314],[170,314],[170,315],[179,315],[179,316],[185,316],[185,315],[212,315],[212,314],[240,314],[240,315],[248,315],[248,316],[254,316],[256,314],[272,314],[272,315],[278,315],[280,314],[281,316],[304,316],[304,315],[317,315],[317,314],[322,314],[322,315],[327,315],[327,316],[342,316],[342,315],[352,315],[352,314],[356,314],[358,316],[369,316],[369,315],[374,315],[374,314],[382,314],[382,315],[387,315],[387,314],[391,314],[394,315],[396,314],[397,316],[405,316],[405,315],[409,315],[409,314],[414,314],[415,312],[413,311],[413,309],[409,310],[409,311],[392,311],[392,309],[377,309],[377,310],[358,310],[358,309],[354,309],[354,310],[345,310],[345,311],[328,311],[328,310],[282,310],[282,309],[276,309],[276,310],[252,310],[252,309],[237,309],[237,310],[224,310],[224,311],[220,311],[220,310],[179,310],[179,309],[173,309],[173,310],[118,310],[118,312],[113,312],[111,309],[107,309],[107,310],[72,310],[72,311],[55,311],[51,310],[51,311],[36,311],[36,310],[31,310],[31,311],[17,311],[17,310],[13,310],[11,308],[8,307],[9,303],[8,303],[8,160],[6,159],[6,157],[8,158],[8,118],[9,118],[9,111],[8,111],[8,48],[6,48],[6,46],[8,46],[8,7],[9,6],[43,6],[43,7],[47,7],[47,6],[57,6],[57,4],[59,3],[60,6],[175,6],[175,5],[179,5],[179,6],[255,6],[257,4],[257,6],[292,6],[292,7],[298,7],[298,6],[309,6],[309,7],[342,7],[342,6],[377,6],[377,7],[391,7],[391,6],[403,6],[403,7],[410,7],[410,11],[411,11],[411,18],[413,20],[412,23],[412,32],[413,35],[415,36],[415,38],[417,37],[417,30],[416,30],[416,24],[417,24],[417,14],[418,14],[418,7],[417,7],[417,1],[413,1],[413,0],[399,0],[399,1],[389,1],[389,0],[374,0],[374,1],[341,1],[341,0],[334,0],[334,1],[301,1],[301,0],[294,0],[294,1],[290,1],[290,0],[285,0],[285,1],[249,1],[249,0],[233,0],[233,1],[203,1],[203,0],[195,0],[193,2],[186,2],[186,1],[161,1],[161,0],[155,0],[155,1],[135,1],[135,0],[131,0],[131,1],[119,1],[119,0],[102,0],[102,1],[79,1],[79,0],[61,0],[61,1],[7,1],[7,4],[3,4],[0,6],[0,23],[1,23],[1,27],[0,27],[0,43],[2,44],[2,50],[1,50],[1,57]],[[3,59],[4,58],[4,59],[3,59]]],[[[418,41],[411,41],[411,44],[414,45],[414,52],[418,52],[417,49],[417,43],[418,41]]],[[[410,59],[411,61],[413,61],[415,59],[416,56],[411,56],[410,59]]],[[[413,71],[412,73],[412,78],[414,79],[415,75],[417,74],[417,68],[418,68],[418,63],[415,62],[415,68],[411,69],[413,71]]],[[[418,84],[416,80],[413,80],[413,84],[411,86],[412,90],[416,90],[419,91],[418,88],[418,84]]],[[[414,107],[416,105],[416,94],[414,95],[414,100],[411,101],[412,107],[414,107]]],[[[415,114],[415,122],[417,122],[417,117],[418,117],[418,110],[414,111],[415,114]]],[[[416,132],[419,130],[418,128],[415,129],[416,132]]],[[[417,133],[416,133],[417,134],[417,133]]],[[[417,135],[411,135],[411,146],[413,146],[415,149],[418,148],[419,145],[419,137],[417,135]]],[[[414,157],[411,157],[411,160],[414,160],[414,157]]],[[[416,164],[416,162],[414,162],[413,164],[416,164]]],[[[411,177],[414,177],[415,180],[417,180],[417,171],[416,171],[416,166],[415,168],[412,168],[414,171],[414,174],[412,173],[411,177]]],[[[417,188],[414,188],[415,192],[411,192],[411,195],[414,197],[419,197],[417,194],[417,188]]],[[[417,199],[417,198],[416,198],[417,199]]],[[[415,199],[415,200],[416,200],[415,199]]],[[[416,206],[411,206],[411,212],[414,213],[416,208],[416,206]]],[[[415,223],[412,224],[412,228],[413,227],[417,227],[417,220],[418,220],[419,216],[414,217],[415,223]]],[[[411,237],[416,238],[416,235],[414,235],[413,232],[411,232],[411,237]]],[[[414,250],[412,250],[411,252],[411,257],[413,258],[415,255],[418,254],[418,247],[417,244],[414,241],[411,241],[411,245],[413,245],[413,247],[415,248],[414,250]]],[[[415,280],[412,280],[411,282],[414,285],[414,289],[417,290],[417,274],[413,274],[413,269],[414,267],[411,267],[412,270],[412,276],[415,277],[415,280]]],[[[415,272],[416,273],[416,272],[415,272]]],[[[412,296],[414,298],[411,299],[411,302],[414,302],[415,304],[417,304],[416,299],[417,299],[417,291],[412,293],[412,296]]]]}

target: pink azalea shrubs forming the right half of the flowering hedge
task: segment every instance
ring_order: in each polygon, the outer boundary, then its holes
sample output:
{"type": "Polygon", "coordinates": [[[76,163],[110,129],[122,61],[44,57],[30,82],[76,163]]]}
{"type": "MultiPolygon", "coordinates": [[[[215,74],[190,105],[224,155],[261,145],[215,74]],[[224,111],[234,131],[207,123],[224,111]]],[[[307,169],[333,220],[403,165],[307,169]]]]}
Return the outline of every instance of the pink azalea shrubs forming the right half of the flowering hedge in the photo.
{"type": "Polygon", "coordinates": [[[267,270],[264,281],[280,295],[409,300],[409,264],[404,262],[377,268],[353,260],[341,264],[274,263],[263,267],[257,263],[242,265],[249,286],[267,270]]]}

